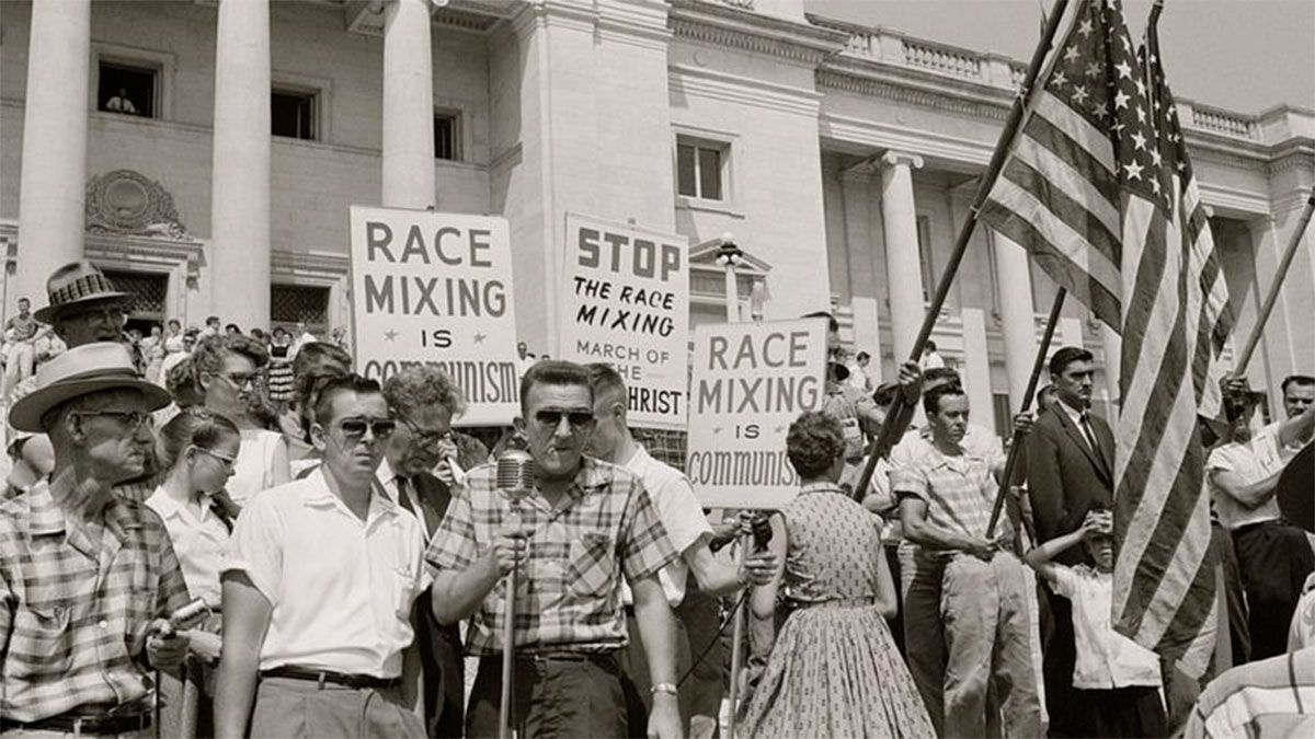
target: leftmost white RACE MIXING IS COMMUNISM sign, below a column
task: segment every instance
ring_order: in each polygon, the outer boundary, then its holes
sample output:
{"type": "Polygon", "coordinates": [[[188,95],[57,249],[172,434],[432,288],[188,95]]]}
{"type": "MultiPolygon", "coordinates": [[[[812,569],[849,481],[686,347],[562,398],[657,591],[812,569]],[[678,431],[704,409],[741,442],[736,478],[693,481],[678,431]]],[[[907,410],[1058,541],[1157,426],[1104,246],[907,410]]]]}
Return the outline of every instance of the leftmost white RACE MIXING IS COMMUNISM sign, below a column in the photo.
{"type": "Polygon", "coordinates": [[[351,206],[356,371],[383,383],[435,364],[466,396],[464,426],[519,412],[505,218],[351,206]]]}

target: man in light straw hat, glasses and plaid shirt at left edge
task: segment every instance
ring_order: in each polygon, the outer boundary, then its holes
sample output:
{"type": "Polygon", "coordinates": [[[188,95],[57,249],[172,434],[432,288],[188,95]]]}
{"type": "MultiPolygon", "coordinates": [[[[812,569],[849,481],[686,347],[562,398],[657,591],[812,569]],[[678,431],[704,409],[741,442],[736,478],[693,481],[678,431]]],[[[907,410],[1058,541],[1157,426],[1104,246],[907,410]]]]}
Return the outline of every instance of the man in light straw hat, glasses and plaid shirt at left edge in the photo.
{"type": "Polygon", "coordinates": [[[0,731],[146,735],[147,675],[188,647],[163,617],[188,594],[160,518],[113,484],[142,473],[168,401],[122,345],[93,342],[41,367],[11,408],[55,464],[0,502],[0,731]]]}

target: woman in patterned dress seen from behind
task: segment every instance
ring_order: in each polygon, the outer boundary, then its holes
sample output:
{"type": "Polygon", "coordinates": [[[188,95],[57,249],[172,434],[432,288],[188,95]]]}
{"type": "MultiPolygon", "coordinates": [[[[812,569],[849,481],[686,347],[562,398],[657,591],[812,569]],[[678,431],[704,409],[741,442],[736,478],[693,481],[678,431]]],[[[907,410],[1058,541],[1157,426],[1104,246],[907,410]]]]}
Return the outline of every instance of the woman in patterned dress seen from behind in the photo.
{"type": "Polygon", "coordinates": [[[746,736],[935,736],[886,626],[897,601],[881,521],[836,484],[840,423],[805,413],[790,425],[786,454],[802,488],[772,517],[771,546],[784,564],[752,604],[759,625],[773,608],[792,613],[739,728],[746,736]]]}

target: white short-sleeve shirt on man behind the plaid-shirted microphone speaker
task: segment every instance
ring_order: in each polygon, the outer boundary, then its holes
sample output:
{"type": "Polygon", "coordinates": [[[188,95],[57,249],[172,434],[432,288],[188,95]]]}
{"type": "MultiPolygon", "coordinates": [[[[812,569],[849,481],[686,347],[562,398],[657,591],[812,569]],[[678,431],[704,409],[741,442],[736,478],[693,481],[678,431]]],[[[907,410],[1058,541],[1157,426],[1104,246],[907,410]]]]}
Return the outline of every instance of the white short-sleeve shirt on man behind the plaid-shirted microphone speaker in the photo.
{"type": "MultiPolygon", "coordinates": [[[[707,525],[704,508],[694,497],[694,488],[680,469],[650,456],[643,444],[626,463],[626,469],[639,476],[658,510],[658,518],[667,529],[667,538],[671,540],[672,548],[679,554],[684,554],[704,536],[713,535],[713,527],[707,525]]],[[[684,558],[676,558],[658,573],[658,580],[661,581],[663,593],[671,608],[679,606],[685,600],[685,581],[688,579],[689,565],[685,564],[684,558]]]]}

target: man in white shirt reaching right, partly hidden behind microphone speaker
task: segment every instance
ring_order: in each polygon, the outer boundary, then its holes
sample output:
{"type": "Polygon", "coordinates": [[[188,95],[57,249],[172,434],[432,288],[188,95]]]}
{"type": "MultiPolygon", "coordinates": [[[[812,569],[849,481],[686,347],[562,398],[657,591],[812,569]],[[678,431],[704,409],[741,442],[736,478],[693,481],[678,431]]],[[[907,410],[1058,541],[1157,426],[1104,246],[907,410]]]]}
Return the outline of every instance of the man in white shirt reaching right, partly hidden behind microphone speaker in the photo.
{"type": "MultiPolygon", "coordinates": [[[[742,569],[713,555],[707,543],[713,530],[704,517],[704,509],[694,497],[689,480],[679,469],[658,462],[648,455],[643,444],[630,434],[626,423],[626,404],[630,393],[625,380],[609,364],[588,364],[589,385],[593,391],[593,414],[596,418],[593,435],[589,437],[586,452],[604,462],[619,464],[635,473],[658,510],[658,518],[667,529],[672,548],[680,558],[658,573],[663,593],[672,609],[685,597],[685,581],[693,571],[701,590],[725,596],[734,593],[746,584],[765,585],[776,571],[776,556],[771,554],[753,555],[744,561],[742,569]]],[[[629,590],[622,597],[629,601],[629,590]]],[[[681,615],[680,611],[676,611],[681,615]]],[[[643,735],[648,715],[648,660],[644,659],[639,629],[635,626],[634,610],[626,609],[630,643],[622,659],[622,669],[627,675],[626,690],[631,735],[643,735]]],[[[690,650],[689,626],[681,618],[676,619],[676,668],[680,675],[689,671],[690,650]]],[[[696,629],[698,631],[698,629],[696,629]]],[[[702,648],[704,644],[698,644],[702,648]]],[[[694,696],[689,689],[681,690],[681,722],[689,728],[690,707],[694,696]]]]}

